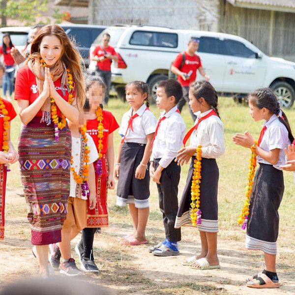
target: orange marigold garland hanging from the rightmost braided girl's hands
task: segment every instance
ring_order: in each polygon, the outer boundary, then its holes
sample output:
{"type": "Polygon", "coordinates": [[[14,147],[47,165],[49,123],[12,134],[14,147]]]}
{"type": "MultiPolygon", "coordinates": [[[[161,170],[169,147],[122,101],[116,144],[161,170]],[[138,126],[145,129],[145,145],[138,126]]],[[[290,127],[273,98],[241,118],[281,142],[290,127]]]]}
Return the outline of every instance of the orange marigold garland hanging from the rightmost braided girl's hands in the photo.
{"type": "Polygon", "coordinates": [[[258,142],[254,142],[254,145],[251,147],[251,157],[250,157],[249,172],[248,172],[248,182],[246,186],[245,202],[244,202],[244,207],[242,208],[242,212],[238,216],[238,220],[237,220],[237,223],[242,225],[243,230],[247,226],[248,215],[249,215],[250,197],[251,197],[253,178],[255,176],[255,168],[256,168],[256,156],[257,156],[256,146],[258,146],[258,142]]]}

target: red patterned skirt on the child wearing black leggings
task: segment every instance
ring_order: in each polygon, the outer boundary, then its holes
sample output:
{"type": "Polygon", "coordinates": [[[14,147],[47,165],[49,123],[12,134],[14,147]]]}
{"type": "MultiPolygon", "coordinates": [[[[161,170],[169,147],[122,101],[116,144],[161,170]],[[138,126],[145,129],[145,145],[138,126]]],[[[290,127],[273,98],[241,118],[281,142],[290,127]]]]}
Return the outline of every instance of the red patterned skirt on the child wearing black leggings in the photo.
{"type": "MultiPolygon", "coordinates": [[[[109,166],[107,161],[107,155],[103,155],[101,159],[102,174],[98,176],[95,173],[95,185],[96,185],[96,205],[94,209],[89,209],[89,199],[87,200],[87,227],[98,228],[107,227],[109,225],[108,217],[108,177],[109,166]]],[[[96,167],[96,161],[93,163],[94,170],[96,167]]]]}

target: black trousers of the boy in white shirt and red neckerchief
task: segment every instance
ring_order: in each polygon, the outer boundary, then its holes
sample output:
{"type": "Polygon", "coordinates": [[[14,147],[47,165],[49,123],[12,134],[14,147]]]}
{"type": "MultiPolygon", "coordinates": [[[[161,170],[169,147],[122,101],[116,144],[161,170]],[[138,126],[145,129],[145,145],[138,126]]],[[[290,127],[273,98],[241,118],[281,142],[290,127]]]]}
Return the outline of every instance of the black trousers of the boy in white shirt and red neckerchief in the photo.
{"type": "MultiPolygon", "coordinates": [[[[154,160],[155,170],[159,166],[160,159],[154,160]]],[[[171,242],[181,240],[180,229],[175,229],[175,220],[178,210],[178,183],[180,179],[180,166],[174,160],[163,169],[160,178],[160,184],[157,183],[159,193],[159,207],[163,214],[163,223],[165,228],[166,238],[171,242]]]]}

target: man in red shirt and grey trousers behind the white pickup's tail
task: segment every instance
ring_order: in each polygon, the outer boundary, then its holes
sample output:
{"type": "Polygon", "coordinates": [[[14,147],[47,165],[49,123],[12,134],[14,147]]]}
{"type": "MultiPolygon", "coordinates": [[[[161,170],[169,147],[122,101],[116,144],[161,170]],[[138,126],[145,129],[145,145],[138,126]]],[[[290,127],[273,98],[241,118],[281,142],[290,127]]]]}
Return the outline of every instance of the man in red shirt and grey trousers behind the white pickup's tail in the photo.
{"type": "Polygon", "coordinates": [[[104,103],[108,104],[109,92],[111,88],[111,64],[114,60],[118,60],[115,49],[109,46],[111,36],[108,33],[104,33],[102,36],[102,45],[98,45],[94,48],[90,58],[97,61],[97,74],[104,79],[107,89],[105,94],[104,103]]]}

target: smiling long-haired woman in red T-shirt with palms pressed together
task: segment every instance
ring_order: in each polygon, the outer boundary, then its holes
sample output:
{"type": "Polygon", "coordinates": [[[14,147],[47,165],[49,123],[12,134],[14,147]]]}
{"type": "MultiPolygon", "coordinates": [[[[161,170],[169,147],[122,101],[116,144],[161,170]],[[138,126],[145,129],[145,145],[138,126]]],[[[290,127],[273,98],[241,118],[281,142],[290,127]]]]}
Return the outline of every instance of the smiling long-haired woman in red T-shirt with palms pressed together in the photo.
{"type": "MultiPolygon", "coordinates": [[[[14,98],[25,125],[20,171],[40,274],[49,274],[48,245],[61,241],[70,192],[71,132],[86,99],[81,55],[57,25],[40,29],[16,75],[14,98]]],[[[34,253],[34,252],[33,252],[34,253]]]]}

